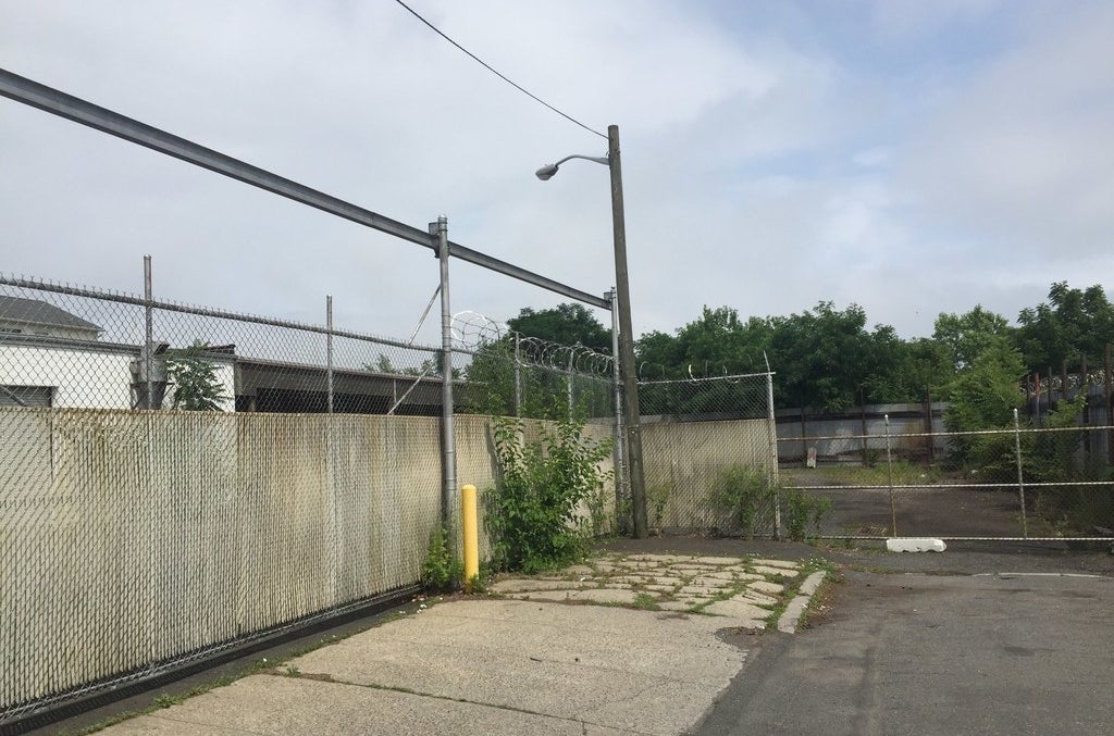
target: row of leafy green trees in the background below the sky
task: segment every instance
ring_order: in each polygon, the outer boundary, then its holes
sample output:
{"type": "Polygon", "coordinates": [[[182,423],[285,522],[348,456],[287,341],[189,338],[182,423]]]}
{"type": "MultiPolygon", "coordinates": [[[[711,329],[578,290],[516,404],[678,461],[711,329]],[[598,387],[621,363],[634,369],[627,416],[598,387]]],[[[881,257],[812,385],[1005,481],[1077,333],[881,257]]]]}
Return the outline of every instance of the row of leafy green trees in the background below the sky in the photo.
{"type": "MultiPolygon", "coordinates": [[[[584,306],[522,310],[512,330],[563,344],[610,349],[610,330],[584,306]]],[[[1012,391],[1026,375],[1101,366],[1114,342],[1114,304],[1100,285],[1052,284],[1016,324],[981,305],[940,313],[930,337],[901,338],[887,324],[868,327],[858,304],[832,302],[788,316],[742,318],[707,307],[673,334],[649,332],[635,345],[642,380],[693,375],[774,375],[779,408],[839,411],[860,403],[948,401],[971,391],[1012,391]],[[1009,386],[1010,389],[1006,389],[1009,386]]]]}

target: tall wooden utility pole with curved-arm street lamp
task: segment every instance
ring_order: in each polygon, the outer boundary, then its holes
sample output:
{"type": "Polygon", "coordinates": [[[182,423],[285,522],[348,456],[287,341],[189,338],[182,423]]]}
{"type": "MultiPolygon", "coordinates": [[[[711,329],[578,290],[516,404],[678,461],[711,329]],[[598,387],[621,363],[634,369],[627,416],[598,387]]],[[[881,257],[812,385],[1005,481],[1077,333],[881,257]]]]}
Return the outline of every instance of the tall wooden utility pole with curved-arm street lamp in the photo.
{"type": "Polygon", "coordinates": [[[573,158],[603,164],[612,173],[612,234],[615,242],[615,288],[619,316],[619,367],[623,372],[623,412],[626,422],[628,478],[631,506],[634,516],[634,536],[649,536],[646,523],[646,487],[642,471],[642,426],[638,416],[638,376],[634,367],[634,335],[631,326],[631,283],[626,264],[626,220],[623,214],[623,167],[619,159],[619,128],[607,127],[607,156],[566,156],[556,164],[547,164],[536,173],[543,181],[549,180],[558,167],[573,158]]]}

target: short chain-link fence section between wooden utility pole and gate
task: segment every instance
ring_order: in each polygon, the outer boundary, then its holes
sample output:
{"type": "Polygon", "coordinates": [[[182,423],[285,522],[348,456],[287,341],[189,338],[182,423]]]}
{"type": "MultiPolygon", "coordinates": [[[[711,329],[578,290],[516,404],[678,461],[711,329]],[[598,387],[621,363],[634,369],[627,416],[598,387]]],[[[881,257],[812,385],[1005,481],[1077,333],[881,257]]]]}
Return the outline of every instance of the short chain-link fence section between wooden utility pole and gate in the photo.
{"type": "Polygon", "coordinates": [[[638,384],[651,528],[779,534],[770,382],[760,373],[638,384]]]}

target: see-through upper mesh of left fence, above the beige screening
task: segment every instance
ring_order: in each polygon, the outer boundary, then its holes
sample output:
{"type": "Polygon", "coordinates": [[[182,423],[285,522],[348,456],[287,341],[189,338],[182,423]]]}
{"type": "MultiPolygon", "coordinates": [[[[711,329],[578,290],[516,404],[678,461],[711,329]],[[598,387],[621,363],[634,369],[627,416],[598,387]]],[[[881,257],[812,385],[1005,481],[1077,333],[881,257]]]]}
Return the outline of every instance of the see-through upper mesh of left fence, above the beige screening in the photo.
{"type": "Polygon", "coordinates": [[[372,335],[0,279],[0,405],[436,416],[438,359],[372,335]]]}

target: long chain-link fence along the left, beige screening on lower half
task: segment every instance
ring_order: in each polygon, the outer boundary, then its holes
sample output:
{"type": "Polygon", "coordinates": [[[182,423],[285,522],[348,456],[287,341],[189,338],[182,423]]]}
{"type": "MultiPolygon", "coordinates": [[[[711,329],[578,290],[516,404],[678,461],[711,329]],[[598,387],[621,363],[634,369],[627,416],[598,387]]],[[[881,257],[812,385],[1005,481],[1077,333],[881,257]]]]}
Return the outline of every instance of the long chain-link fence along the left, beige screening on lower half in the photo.
{"type": "MultiPolygon", "coordinates": [[[[0,724],[418,581],[442,353],[329,322],[0,277],[0,724]]],[[[608,356],[463,342],[459,482],[482,414],[610,436],[608,356]]]]}

